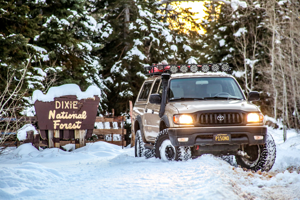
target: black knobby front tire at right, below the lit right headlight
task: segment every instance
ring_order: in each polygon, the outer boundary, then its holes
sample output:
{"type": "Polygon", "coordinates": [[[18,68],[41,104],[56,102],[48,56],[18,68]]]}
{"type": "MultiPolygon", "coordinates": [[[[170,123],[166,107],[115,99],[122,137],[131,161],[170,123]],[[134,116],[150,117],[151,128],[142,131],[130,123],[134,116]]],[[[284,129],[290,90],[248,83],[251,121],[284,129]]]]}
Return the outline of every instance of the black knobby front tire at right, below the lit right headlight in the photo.
{"type": "MultiPolygon", "coordinates": [[[[268,172],[274,165],[276,158],[276,146],[273,137],[270,133],[267,134],[267,142],[265,145],[251,145],[246,146],[245,152],[248,154],[249,150],[257,149],[258,156],[256,160],[250,161],[245,157],[235,155],[235,160],[241,167],[251,169],[254,171],[261,170],[268,172]],[[247,152],[248,151],[248,152],[247,152]]],[[[248,154],[251,157],[251,154],[248,154]]]]}

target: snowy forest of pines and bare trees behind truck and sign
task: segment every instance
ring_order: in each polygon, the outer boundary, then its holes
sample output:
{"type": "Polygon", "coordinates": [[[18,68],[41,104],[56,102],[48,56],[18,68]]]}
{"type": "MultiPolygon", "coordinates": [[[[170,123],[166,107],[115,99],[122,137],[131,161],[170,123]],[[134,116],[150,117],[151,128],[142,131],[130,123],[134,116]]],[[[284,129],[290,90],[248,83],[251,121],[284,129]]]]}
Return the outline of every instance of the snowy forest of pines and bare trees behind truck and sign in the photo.
{"type": "Polygon", "coordinates": [[[299,130],[299,4],[0,0],[0,117],[34,116],[34,90],[74,83],[82,91],[101,89],[99,115],[114,109],[129,119],[144,66],[228,62],[246,96],[260,92],[253,103],[264,115],[281,121],[283,133],[299,130]],[[204,13],[195,13],[190,6],[196,4],[204,13]]]}

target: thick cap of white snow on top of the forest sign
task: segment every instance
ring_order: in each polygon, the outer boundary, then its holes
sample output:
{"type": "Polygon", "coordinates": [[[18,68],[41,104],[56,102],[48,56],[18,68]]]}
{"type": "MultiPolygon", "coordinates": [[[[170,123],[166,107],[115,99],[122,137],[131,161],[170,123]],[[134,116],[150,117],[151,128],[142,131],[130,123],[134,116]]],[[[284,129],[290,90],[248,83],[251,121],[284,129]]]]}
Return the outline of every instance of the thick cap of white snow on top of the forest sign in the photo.
{"type": "Polygon", "coordinates": [[[66,95],[76,95],[78,100],[92,98],[94,95],[98,95],[100,97],[101,90],[94,86],[90,85],[85,92],[82,92],[78,85],[76,84],[65,84],[58,87],[49,88],[47,94],[43,94],[40,90],[35,90],[32,94],[32,100],[35,102],[36,100],[50,102],[54,101],[55,97],[61,97],[66,95]]]}

